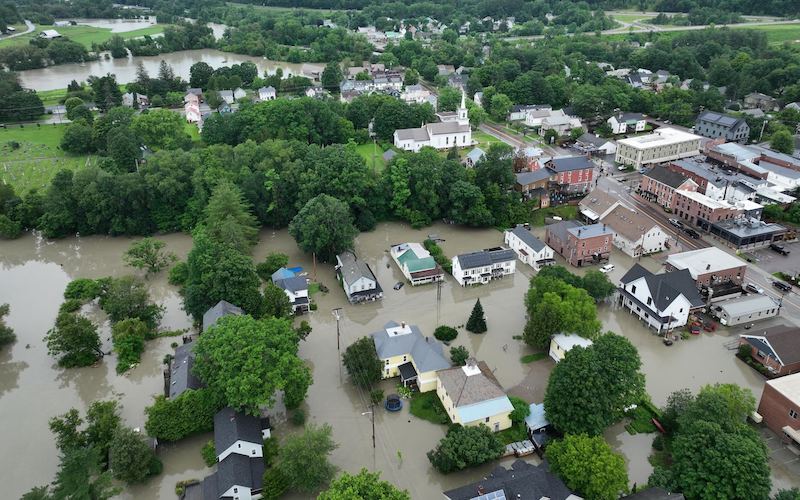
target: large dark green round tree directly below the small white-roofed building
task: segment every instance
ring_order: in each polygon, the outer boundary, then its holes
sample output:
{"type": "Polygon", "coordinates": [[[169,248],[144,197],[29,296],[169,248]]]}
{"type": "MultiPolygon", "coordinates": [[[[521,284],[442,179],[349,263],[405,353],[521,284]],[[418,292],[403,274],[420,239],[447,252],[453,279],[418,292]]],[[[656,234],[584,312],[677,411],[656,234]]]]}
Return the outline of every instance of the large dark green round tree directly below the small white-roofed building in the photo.
{"type": "Polygon", "coordinates": [[[641,365],[633,344],[612,333],[587,348],[574,347],[550,374],[547,419],[563,433],[601,434],[644,397],[641,365]]]}

